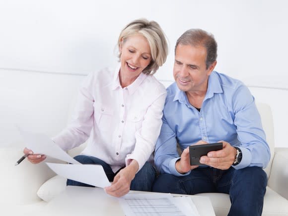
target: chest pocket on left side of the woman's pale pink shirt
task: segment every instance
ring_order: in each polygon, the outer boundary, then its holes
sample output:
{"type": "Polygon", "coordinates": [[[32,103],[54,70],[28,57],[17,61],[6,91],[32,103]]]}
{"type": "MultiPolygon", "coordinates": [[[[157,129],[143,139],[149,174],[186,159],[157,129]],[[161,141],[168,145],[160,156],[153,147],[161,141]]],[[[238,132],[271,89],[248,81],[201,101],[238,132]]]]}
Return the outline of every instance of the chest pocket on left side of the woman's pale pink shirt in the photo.
{"type": "Polygon", "coordinates": [[[113,125],[113,109],[107,106],[99,106],[97,108],[99,113],[98,119],[96,119],[97,125],[100,131],[111,131],[113,125]],[[97,121],[98,120],[98,121],[97,121]]]}

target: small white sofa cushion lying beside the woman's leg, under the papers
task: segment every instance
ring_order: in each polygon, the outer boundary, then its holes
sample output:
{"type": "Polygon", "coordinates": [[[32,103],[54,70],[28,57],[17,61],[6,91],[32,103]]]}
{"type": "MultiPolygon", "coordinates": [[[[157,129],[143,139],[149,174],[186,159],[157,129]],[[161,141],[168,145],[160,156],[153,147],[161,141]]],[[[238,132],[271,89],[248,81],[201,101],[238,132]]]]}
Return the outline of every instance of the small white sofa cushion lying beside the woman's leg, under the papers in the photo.
{"type": "Polygon", "coordinates": [[[44,200],[45,202],[49,202],[54,197],[59,195],[61,192],[66,189],[66,181],[67,179],[56,175],[51,179],[48,179],[37,191],[37,195],[39,198],[44,200]]]}

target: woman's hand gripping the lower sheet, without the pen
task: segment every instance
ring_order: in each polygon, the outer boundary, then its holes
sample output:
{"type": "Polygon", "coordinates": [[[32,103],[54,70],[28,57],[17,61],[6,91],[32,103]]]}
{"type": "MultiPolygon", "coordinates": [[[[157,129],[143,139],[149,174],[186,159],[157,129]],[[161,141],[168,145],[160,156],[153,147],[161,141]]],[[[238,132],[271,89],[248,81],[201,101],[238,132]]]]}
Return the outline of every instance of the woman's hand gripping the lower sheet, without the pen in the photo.
{"type": "Polygon", "coordinates": [[[106,193],[114,197],[122,197],[127,194],[130,191],[131,181],[134,179],[138,170],[138,162],[132,160],[128,166],[120,170],[120,172],[114,177],[112,185],[104,188],[106,193]]]}

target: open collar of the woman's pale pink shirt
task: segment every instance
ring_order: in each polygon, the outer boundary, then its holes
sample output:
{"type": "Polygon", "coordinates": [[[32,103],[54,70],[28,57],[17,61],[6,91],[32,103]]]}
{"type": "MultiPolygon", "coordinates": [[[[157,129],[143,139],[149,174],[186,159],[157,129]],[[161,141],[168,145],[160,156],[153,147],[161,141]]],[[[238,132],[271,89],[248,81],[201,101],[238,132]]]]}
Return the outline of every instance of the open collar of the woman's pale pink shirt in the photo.
{"type": "MultiPolygon", "coordinates": [[[[114,72],[113,76],[113,83],[112,83],[112,90],[116,90],[117,88],[122,88],[119,80],[119,72],[120,72],[121,64],[119,64],[114,72]]],[[[146,74],[143,72],[140,73],[140,75],[132,82],[130,85],[125,87],[128,89],[129,94],[134,94],[134,92],[139,88],[141,83],[144,81],[144,79],[147,77],[146,74]]]]}

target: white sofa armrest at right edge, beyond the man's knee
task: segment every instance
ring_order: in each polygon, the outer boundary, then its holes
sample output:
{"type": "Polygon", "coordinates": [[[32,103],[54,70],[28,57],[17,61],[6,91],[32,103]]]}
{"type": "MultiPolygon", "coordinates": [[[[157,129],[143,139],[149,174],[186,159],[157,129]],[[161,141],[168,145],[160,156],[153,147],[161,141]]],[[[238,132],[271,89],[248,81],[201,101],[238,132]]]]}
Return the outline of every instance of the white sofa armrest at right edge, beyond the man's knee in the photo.
{"type": "Polygon", "coordinates": [[[288,148],[275,148],[268,186],[288,199],[288,148]]]}

